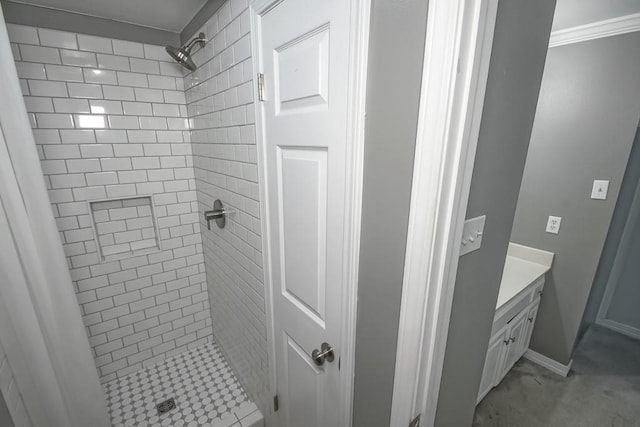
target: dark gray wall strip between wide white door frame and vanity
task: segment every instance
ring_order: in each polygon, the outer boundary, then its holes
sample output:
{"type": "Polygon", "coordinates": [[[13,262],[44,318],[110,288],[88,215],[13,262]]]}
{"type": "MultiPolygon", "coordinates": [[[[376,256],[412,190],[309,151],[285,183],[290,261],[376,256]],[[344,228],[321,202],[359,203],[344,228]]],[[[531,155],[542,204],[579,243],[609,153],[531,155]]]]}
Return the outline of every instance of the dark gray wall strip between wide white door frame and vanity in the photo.
{"type": "Polygon", "coordinates": [[[467,218],[486,214],[482,248],[460,258],[437,426],[471,425],[516,208],[555,0],[498,7],[467,218]]]}

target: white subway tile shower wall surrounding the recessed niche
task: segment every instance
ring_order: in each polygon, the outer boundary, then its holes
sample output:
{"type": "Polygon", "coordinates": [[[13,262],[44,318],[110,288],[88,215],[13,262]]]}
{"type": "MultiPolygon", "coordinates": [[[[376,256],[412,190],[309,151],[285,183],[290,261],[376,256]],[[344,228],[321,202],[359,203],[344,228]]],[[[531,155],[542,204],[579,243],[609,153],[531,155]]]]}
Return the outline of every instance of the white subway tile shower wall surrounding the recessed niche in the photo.
{"type": "Polygon", "coordinates": [[[161,54],[161,46],[28,26],[8,29],[102,381],[210,341],[181,67],[161,54]],[[113,239],[103,255],[113,255],[156,244],[149,205],[142,206],[143,214],[136,206],[135,217],[123,213],[131,207],[126,200],[140,196],[153,198],[161,250],[103,262],[89,202],[125,198],[116,202],[121,210],[109,211],[109,221],[97,224],[99,234],[111,227],[102,236],[113,239]]]}

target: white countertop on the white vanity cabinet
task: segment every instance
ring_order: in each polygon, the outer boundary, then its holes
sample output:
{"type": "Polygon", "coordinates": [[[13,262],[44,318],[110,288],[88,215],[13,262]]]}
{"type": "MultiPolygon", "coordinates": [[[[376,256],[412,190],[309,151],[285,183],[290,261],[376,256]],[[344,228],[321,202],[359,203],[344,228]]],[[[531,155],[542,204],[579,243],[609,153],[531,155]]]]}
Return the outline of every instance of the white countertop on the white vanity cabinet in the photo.
{"type": "Polygon", "coordinates": [[[496,310],[551,269],[553,253],[509,243],[496,310]]]}

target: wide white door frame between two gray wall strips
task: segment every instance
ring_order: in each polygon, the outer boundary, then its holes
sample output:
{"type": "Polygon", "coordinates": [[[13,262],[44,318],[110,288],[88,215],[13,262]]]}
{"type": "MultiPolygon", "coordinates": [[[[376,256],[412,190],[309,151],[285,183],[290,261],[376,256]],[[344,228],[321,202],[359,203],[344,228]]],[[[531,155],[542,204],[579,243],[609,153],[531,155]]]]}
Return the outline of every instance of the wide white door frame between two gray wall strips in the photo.
{"type": "Polygon", "coordinates": [[[431,426],[498,0],[430,0],[391,426],[431,426]]]}

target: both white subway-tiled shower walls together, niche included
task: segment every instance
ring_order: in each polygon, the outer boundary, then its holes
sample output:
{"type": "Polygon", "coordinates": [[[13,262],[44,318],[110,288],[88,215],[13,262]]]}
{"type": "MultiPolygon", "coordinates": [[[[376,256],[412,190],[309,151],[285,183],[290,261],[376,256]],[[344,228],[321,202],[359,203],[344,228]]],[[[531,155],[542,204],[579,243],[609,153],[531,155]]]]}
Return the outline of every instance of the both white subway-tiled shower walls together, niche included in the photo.
{"type": "Polygon", "coordinates": [[[268,413],[246,0],[207,21],[189,74],[164,46],[8,29],[101,381],[215,341],[268,413]],[[208,230],[215,199],[230,214],[208,230]]]}

